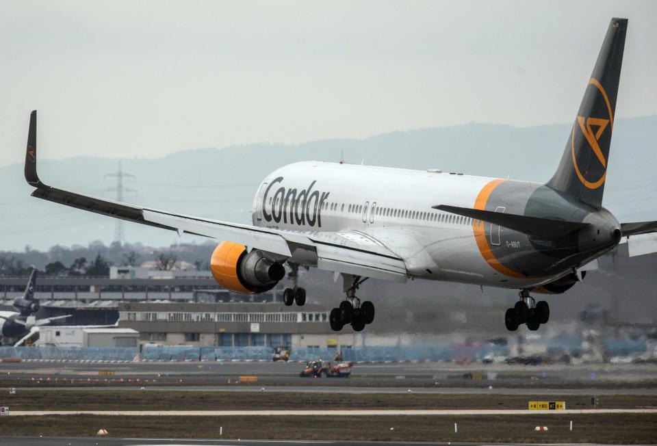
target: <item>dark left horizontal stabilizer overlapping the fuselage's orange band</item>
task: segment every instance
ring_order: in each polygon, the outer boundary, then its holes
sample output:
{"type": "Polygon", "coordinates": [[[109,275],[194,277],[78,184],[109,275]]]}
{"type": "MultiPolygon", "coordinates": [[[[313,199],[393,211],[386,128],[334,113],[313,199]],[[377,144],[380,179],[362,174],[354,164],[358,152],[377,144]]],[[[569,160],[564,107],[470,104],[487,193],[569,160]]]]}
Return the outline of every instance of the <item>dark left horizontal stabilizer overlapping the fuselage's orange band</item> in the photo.
{"type": "Polygon", "coordinates": [[[463,215],[463,217],[474,218],[474,220],[482,220],[491,224],[498,224],[499,226],[504,226],[504,228],[512,229],[530,237],[545,240],[557,239],[589,226],[588,223],[564,222],[562,220],[552,220],[551,218],[482,211],[481,209],[472,209],[469,207],[439,205],[434,206],[433,209],[463,215]]]}

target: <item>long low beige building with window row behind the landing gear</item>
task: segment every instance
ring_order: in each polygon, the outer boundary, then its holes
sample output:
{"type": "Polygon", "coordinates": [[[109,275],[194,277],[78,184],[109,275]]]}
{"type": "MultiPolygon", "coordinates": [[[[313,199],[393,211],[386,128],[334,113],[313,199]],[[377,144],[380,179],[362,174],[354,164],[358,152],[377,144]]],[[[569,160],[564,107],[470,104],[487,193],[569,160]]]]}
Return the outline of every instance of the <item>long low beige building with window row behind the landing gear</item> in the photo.
{"type": "Polygon", "coordinates": [[[279,302],[120,302],[119,326],[140,344],[199,347],[352,347],[359,334],[335,333],[323,306],[279,302]]]}

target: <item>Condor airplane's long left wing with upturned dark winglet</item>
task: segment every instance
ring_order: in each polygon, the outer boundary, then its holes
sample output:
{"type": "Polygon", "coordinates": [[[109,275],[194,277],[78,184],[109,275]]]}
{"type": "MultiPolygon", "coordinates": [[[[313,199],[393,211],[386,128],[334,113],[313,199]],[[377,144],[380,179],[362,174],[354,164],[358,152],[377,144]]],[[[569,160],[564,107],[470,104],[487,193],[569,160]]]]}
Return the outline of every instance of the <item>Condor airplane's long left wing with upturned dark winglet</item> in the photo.
{"type": "Polygon", "coordinates": [[[356,231],[313,233],[259,228],[129,205],[46,185],[36,170],[36,110],[29,119],[25,180],[36,188],[32,196],[84,211],[176,231],[179,235],[188,233],[229,240],[249,250],[271,252],[322,270],[400,282],[407,277],[406,265],[400,257],[372,237],[356,231]]]}

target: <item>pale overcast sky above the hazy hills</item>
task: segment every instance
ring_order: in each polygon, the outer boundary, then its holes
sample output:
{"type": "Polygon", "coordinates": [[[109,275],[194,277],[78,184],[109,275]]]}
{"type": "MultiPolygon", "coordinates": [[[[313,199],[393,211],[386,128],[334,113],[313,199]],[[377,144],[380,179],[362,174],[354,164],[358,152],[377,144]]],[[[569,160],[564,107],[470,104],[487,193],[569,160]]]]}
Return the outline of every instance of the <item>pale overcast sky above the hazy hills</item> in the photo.
{"type": "Polygon", "coordinates": [[[0,0],[0,165],[571,122],[613,16],[618,117],[657,114],[655,1],[0,0]]]}

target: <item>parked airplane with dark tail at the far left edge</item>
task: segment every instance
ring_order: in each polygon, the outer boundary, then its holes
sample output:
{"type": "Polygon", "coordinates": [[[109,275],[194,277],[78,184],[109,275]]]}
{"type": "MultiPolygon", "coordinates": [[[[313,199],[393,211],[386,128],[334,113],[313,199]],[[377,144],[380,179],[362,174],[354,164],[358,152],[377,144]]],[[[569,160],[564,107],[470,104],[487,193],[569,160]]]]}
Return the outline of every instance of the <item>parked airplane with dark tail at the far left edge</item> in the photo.
{"type": "Polygon", "coordinates": [[[34,269],[29,274],[29,280],[27,280],[23,296],[14,299],[13,305],[18,310],[18,313],[14,311],[0,311],[0,335],[2,335],[3,339],[20,339],[27,335],[34,327],[48,325],[57,319],[70,317],[70,315],[63,315],[36,319],[34,313],[40,309],[39,301],[34,298],[36,271],[34,269]]]}

